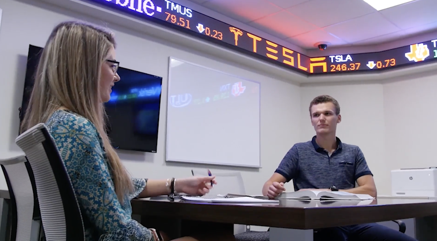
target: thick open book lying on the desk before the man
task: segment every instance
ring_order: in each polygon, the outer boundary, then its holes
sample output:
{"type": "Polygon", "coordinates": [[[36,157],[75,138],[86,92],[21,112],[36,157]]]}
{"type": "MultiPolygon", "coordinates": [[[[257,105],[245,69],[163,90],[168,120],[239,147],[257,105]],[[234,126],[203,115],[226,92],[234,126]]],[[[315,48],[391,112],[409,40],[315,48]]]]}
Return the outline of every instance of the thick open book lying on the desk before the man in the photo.
{"type": "Polygon", "coordinates": [[[277,199],[334,199],[334,200],[367,200],[375,199],[368,194],[354,194],[343,191],[304,190],[297,192],[282,192],[277,199]]]}

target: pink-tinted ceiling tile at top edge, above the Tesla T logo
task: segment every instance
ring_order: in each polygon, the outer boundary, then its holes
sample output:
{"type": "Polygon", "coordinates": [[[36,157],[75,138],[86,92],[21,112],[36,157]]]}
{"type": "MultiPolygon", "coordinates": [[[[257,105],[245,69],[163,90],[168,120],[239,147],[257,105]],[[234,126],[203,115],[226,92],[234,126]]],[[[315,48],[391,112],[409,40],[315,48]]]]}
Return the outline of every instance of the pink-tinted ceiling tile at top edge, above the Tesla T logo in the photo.
{"type": "Polygon", "coordinates": [[[266,0],[209,0],[203,6],[243,23],[282,10],[266,0]]]}

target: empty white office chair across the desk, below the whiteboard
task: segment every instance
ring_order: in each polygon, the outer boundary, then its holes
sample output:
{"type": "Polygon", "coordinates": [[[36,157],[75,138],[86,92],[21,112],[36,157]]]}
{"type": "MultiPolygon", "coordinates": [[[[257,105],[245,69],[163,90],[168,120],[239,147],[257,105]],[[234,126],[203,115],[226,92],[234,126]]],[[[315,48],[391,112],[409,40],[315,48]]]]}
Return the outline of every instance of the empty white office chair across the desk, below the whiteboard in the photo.
{"type": "MultiPolygon", "coordinates": [[[[193,176],[208,176],[208,170],[191,171],[193,176]]],[[[212,173],[215,176],[217,185],[205,196],[217,196],[218,194],[226,195],[243,194],[246,195],[244,189],[243,177],[239,171],[226,173],[212,173]]],[[[250,231],[250,225],[234,224],[234,235],[237,241],[269,241],[269,232],[250,231]]]]}

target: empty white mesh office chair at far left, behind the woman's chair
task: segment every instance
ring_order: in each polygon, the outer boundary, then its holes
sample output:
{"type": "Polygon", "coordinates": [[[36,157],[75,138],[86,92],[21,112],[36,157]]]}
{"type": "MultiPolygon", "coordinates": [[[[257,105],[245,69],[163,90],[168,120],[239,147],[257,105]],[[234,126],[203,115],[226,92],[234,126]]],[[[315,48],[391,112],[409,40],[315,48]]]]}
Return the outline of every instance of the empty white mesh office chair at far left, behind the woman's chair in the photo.
{"type": "Polygon", "coordinates": [[[41,229],[36,187],[26,156],[1,159],[10,195],[10,241],[38,241],[41,229]]]}

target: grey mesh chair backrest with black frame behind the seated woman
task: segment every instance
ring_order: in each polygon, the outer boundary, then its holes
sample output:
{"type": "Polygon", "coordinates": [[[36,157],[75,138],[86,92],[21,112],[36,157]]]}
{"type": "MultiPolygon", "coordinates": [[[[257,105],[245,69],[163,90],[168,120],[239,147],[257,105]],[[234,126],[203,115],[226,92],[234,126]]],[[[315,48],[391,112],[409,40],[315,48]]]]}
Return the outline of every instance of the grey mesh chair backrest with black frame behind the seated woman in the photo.
{"type": "Polygon", "coordinates": [[[44,123],[15,140],[35,177],[42,225],[47,241],[85,240],[82,215],[64,162],[44,123]]]}

